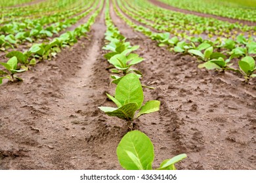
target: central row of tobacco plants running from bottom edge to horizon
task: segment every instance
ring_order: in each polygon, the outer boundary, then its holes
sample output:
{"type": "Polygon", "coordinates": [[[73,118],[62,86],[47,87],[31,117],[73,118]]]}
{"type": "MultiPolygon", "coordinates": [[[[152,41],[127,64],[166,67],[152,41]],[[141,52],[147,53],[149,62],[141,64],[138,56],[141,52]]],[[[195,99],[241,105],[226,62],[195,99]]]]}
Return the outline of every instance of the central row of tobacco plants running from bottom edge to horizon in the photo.
{"type": "MultiPolygon", "coordinates": [[[[110,18],[109,1],[106,1],[105,22],[107,31],[105,33],[106,45],[104,50],[108,53],[104,58],[112,65],[110,69],[112,83],[116,85],[115,95],[106,95],[117,107],[98,107],[108,116],[114,116],[125,120],[127,126],[132,130],[121,139],[117,146],[117,158],[121,167],[127,170],[152,170],[154,161],[154,145],[145,133],[138,130],[133,131],[133,120],[144,114],[160,110],[160,101],[147,101],[144,105],[144,94],[140,78],[142,73],[133,69],[137,63],[143,61],[134,51],[139,46],[131,46],[130,42],[120,34],[117,27],[110,18]]],[[[171,159],[165,159],[158,169],[174,170],[175,163],[186,158],[186,154],[180,154],[171,159]]]]}

